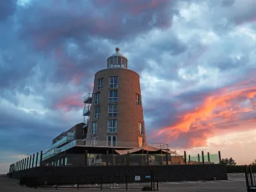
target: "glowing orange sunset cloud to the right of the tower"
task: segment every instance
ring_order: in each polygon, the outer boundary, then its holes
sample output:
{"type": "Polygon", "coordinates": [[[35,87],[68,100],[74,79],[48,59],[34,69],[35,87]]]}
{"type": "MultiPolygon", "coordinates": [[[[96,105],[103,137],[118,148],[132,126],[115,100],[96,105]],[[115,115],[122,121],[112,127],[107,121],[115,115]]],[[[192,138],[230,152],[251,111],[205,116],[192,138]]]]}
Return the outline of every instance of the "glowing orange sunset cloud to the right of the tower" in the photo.
{"type": "Polygon", "coordinates": [[[177,140],[185,137],[188,139],[183,141],[186,142],[185,147],[192,148],[205,146],[208,138],[221,132],[244,131],[248,124],[256,122],[255,97],[255,81],[221,88],[205,97],[200,106],[177,116],[178,122],[164,127],[153,138],[163,137],[172,145],[173,141],[179,143],[177,140]]]}

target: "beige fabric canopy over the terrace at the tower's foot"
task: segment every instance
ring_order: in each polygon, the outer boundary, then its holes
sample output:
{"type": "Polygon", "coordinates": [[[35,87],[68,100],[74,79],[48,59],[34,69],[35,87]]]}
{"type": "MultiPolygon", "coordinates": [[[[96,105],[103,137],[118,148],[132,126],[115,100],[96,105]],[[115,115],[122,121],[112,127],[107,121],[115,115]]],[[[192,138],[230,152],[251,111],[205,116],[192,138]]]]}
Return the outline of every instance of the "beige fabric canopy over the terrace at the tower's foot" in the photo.
{"type": "Polygon", "coordinates": [[[115,150],[116,153],[120,154],[121,156],[124,154],[143,154],[148,151],[148,154],[165,154],[166,152],[168,154],[176,154],[176,152],[172,152],[170,150],[163,150],[161,148],[152,147],[150,145],[144,145],[143,147],[138,148],[132,148],[132,149],[125,149],[125,150],[115,150]]]}

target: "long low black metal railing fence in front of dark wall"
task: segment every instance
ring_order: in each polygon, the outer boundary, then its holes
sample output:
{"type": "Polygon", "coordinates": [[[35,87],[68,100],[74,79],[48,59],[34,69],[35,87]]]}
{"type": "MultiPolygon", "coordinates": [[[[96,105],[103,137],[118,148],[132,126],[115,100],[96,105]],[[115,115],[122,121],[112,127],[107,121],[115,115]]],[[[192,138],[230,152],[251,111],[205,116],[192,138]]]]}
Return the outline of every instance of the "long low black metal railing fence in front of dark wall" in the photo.
{"type": "Polygon", "coordinates": [[[29,188],[97,188],[97,189],[140,189],[145,191],[158,190],[158,179],[152,170],[148,175],[22,175],[20,186],[29,188]]]}

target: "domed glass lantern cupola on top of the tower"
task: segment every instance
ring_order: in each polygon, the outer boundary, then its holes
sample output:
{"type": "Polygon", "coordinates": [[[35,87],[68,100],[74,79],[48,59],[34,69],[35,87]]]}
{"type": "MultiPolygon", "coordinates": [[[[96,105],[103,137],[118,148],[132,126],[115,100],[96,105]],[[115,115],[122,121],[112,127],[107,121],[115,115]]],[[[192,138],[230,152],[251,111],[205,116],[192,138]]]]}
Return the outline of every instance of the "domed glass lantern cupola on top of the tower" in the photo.
{"type": "Polygon", "coordinates": [[[107,68],[128,68],[127,58],[125,58],[119,51],[120,49],[116,47],[116,52],[107,60],[107,68]]]}

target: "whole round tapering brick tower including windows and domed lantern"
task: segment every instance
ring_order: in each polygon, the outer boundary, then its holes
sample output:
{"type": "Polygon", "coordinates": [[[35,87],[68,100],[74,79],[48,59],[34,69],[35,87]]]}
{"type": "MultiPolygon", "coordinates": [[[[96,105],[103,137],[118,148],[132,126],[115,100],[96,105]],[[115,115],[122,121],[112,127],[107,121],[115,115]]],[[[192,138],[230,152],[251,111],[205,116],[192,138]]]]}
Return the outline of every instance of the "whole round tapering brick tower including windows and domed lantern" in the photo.
{"type": "Polygon", "coordinates": [[[140,76],[120,49],[95,74],[86,145],[141,147],[146,143],[140,76]]]}

